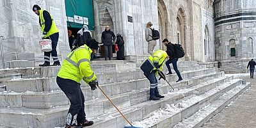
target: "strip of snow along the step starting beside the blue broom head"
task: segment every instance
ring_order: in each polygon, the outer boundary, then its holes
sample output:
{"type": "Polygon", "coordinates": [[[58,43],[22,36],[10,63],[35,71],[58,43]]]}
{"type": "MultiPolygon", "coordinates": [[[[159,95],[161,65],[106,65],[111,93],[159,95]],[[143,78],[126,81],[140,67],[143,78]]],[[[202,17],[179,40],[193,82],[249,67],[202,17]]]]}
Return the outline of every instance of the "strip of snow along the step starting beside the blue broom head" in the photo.
{"type": "MultiPolygon", "coordinates": [[[[164,109],[156,111],[153,116],[150,116],[145,120],[141,120],[140,122],[134,122],[133,124],[136,127],[147,128],[156,126],[158,128],[162,124],[169,122],[167,124],[170,124],[171,127],[171,125],[175,124],[175,122],[178,123],[182,120],[182,118],[187,118],[189,116],[189,113],[182,113],[182,111],[186,109],[193,109],[193,111],[195,111],[197,107],[195,108],[194,105],[205,104],[205,102],[209,102],[205,99],[211,99],[211,97],[217,95],[218,92],[221,92],[222,90],[224,91],[225,88],[228,88],[230,85],[236,84],[239,81],[241,81],[241,79],[234,79],[228,83],[221,84],[220,86],[217,86],[216,88],[202,95],[196,95],[191,99],[182,100],[182,102],[177,104],[166,104],[164,109]],[[162,122],[162,124],[159,124],[160,122],[162,122]]],[[[191,113],[193,113],[193,111],[191,111],[191,113]]]]}

